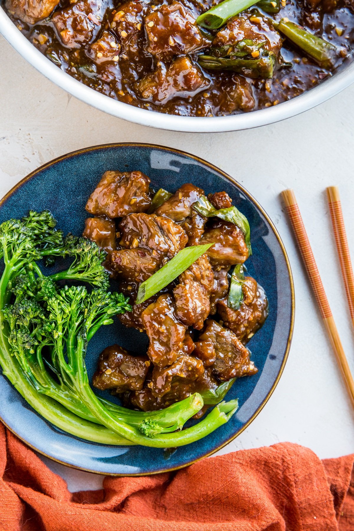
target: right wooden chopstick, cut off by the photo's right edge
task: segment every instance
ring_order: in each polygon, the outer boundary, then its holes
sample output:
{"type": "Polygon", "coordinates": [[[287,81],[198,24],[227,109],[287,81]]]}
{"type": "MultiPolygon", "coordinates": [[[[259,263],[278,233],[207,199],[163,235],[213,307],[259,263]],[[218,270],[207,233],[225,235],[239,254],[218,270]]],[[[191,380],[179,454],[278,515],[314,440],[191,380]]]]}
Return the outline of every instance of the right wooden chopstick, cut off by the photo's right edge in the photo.
{"type": "Polygon", "coordinates": [[[344,287],[347,293],[350,317],[354,326],[354,276],[338,186],[329,186],[327,188],[327,199],[330,207],[335,244],[337,246],[344,287]]]}

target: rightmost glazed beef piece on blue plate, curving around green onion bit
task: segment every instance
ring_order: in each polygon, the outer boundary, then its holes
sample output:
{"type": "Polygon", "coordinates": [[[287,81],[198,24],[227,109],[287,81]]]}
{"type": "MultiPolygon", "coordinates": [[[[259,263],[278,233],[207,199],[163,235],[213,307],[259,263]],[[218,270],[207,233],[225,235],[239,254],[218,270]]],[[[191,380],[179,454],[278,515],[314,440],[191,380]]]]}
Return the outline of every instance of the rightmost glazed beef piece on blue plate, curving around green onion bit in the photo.
{"type": "Polygon", "coordinates": [[[252,277],[242,286],[244,299],[238,310],[232,310],[223,299],[217,305],[223,323],[240,341],[246,343],[261,328],[268,315],[268,301],[264,289],[252,277]]]}

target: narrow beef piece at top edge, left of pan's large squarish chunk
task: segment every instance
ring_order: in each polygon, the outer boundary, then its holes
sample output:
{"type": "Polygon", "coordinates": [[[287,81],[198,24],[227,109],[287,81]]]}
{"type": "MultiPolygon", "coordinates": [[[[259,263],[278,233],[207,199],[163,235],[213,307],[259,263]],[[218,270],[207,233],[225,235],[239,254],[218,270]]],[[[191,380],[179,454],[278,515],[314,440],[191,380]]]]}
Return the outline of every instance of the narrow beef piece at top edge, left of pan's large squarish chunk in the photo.
{"type": "Polygon", "coordinates": [[[122,51],[129,59],[141,59],[138,40],[144,35],[143,16],[146,7],[143,3],[132,0],[120,5],[109,15],[110,29],[113,30],[122,45],[122,51]]]}

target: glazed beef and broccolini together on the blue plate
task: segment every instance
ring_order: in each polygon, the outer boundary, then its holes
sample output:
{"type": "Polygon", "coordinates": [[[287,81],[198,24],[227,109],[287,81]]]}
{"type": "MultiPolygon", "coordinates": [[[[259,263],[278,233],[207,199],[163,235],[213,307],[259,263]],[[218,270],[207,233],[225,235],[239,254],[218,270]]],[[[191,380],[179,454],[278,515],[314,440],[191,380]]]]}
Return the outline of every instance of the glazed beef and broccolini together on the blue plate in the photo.
{"type": "Polygon", "coordinates": [[[152,198],[149,185],[141,172],[106,172],[87,204],[85,237],[64,237],[49,211],[0,225],[0,364],[30,406],[68,433],[175,448],[235,413],[237,400],[222,400],[256,372],[245,344],[267,301],[243,274],[249,225],[225,192],[209,201],[186,184],[152,198]],[[100,355],[93,384],[124,406],[93,392],[85,366],[88,342],[115,315],[150,339],[147,353],[113,345],[100,355]]]}

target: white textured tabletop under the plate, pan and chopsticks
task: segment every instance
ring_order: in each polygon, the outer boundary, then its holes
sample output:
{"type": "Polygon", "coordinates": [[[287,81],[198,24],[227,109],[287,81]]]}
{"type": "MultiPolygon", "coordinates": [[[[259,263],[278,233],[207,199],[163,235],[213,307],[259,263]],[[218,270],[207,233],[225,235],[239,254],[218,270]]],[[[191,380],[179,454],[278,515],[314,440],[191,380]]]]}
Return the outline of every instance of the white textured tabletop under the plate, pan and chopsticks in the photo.
{"type": "MultiPolygon", "coordinates": [[[[279,199],[293,187],[354,372],[354,336],[334,252],[325,187],[339,185],[354,259],[354,85],[307,113],[251,131],[174,133],[113,118],[75,100],[29,66],[0,37],[0,196],[31,170],[75,149],[108,142],[151,142],[209,160],[262,204],[289,254],[296,320],[278,387],[251,426],[220,453],[279,441],[321,458],[354,451],[354,414],[313,302],[279,199]]],[[[71,491],[96,489],[101,476],[45,459],[71,491]]]]}

